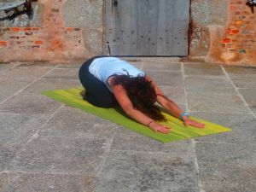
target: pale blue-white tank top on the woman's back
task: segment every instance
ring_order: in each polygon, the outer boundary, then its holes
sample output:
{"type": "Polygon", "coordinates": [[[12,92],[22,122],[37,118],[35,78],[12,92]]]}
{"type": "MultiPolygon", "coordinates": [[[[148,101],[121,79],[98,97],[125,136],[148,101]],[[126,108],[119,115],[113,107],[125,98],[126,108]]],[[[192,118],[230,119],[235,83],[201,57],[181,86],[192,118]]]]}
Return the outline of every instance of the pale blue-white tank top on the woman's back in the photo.
{"type": "Polygon", "coordinates": [[[137,67],[131,66],[126,61],[119,60],[116,57],[102,57],[97,58],[90,64],[89,72],[102,81],[108,87],[108,90],[113,92],[111,87],[108,85],[108,78],[112,75],[126,74],[132,77],[138,75],[145,76],[143,71],[137,69],[137,67]]]}

